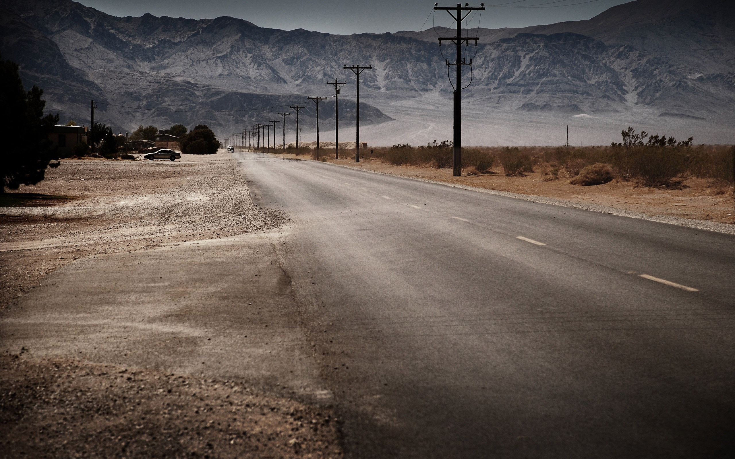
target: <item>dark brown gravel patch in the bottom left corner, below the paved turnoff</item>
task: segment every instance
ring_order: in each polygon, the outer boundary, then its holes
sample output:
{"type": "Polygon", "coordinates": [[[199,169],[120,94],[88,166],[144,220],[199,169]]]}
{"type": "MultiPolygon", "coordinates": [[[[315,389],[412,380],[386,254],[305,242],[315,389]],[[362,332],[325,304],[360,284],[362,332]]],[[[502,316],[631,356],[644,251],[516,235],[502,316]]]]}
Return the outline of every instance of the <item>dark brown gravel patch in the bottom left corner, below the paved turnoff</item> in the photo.
{"type": "Polygon", "coordinates": [[[334,413],[241,381],[0,356],[4,458],[337,458],[334,413]]]}

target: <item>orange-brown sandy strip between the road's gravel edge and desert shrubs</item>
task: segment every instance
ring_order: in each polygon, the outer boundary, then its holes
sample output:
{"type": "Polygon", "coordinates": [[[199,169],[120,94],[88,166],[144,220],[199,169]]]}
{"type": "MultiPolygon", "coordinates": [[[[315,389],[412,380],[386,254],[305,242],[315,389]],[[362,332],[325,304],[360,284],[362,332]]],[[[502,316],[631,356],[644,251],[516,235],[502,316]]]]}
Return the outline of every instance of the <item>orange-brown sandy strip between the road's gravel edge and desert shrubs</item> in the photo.
{"type": "MultiPolygon", "coordinates": [[[[295,157],[284,154],[279,156],[295,157]]],[[[298,156],[298,158],[310,159],[309,156],[298,156]]],[[[398,176],[462,184],[468,187],[610,206],[651,216],[735,224],[735,199],[732,185],[704,178],[685,178],[681,184],[670,188],[640,187],[632,181],[612,181],[608,184],[582,187],[570,184],[570,177],[564,176],[563,172],[559,174],[558,179],[553,180],[548,172],[545,175],[541,167],[537,167],[534,173],[528,173],[525,177],[506,177],[501,167],[495,167],[492,174],[453,177],[451,169],[394,166],[380,159],[370,159],[369,153],[368,158],[361,159],[359,163],[354,162],[354,159],[329,159],[329,162],[398,176]]]]}

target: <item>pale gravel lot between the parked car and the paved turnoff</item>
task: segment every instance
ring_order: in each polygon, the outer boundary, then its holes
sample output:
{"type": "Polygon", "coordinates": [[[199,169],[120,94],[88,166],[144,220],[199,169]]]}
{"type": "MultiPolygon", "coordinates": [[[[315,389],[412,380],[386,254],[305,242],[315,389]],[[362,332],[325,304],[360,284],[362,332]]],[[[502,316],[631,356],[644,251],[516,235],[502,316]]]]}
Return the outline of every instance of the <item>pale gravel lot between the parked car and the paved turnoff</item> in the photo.
{"type": "Polygon", "coordinates": [[[229,153],[181,161],[64,159],[46,180],[3,197],[0,305],[86,256],[275,228],[229,153]],[[10,204],[10,206],[7,206],[10,204]]]}

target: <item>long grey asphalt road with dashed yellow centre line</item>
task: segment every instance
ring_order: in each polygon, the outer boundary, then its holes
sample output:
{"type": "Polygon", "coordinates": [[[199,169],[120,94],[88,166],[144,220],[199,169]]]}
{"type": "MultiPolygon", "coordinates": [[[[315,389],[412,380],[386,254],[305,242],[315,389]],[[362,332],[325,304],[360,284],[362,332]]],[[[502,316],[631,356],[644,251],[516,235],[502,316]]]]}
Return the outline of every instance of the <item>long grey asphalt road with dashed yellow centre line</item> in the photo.
{"type": "Polygon", "coordinates": [[[235,156],[349,457],[735,452],[734,236],[235,156]]]}

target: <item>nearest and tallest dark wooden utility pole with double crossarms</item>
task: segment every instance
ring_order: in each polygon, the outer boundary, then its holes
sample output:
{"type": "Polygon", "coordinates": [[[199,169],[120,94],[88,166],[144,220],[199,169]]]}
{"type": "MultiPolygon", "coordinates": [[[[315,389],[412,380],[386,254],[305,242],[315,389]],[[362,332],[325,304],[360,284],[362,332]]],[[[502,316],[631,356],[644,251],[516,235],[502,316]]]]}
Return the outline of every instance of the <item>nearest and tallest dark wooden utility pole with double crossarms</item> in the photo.
{"type": "Polygon", "coordinates": [[[442,41],[447,40],[454,43],[456,46],[456,61],[453,64],[449,63],[447,59],[447,66],[456,66],[456,87],[454,88],[454,173],[455,177],[462,175],[462,65],[472,65],[472,59],[467,63],[466,58],[462,58],[462,43],[467,43],[470,46],[470,40],[475,41],[477,46],[477,40],[479,37],[462,37],[462,21],[470,15],[470,12],[474,10],[484,10],[485,4],[481,3],[479,7],[470,7],[469,4],[465,4],[463,7],[461,3],[458,3],[456,8],[454,7],[440,7],[438,3],[434,4],[434,10],[445,10],[451,15],[457,23],[457,35],[454,37],[439,37],[439,46],[442,46],[442,41]],[[452,12],[456,11],[456,16],[452,12]],[[467,12],[465,14],[465,11],[467,12]]]}

